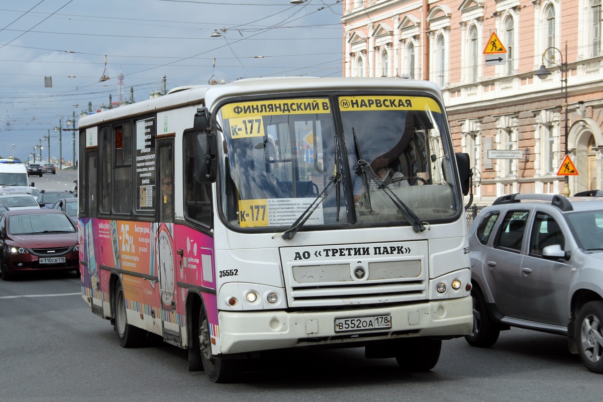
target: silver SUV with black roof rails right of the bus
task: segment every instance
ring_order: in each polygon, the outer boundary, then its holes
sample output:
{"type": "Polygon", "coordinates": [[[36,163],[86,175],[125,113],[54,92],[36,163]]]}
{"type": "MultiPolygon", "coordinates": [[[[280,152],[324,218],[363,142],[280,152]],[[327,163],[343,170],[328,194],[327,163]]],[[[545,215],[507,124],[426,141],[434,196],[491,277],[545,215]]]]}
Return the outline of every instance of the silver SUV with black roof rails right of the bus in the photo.
{"type": "Polygon", "coordinates": [[[562,334],[571,353],[603,373],[603,197],[502,196],[469,230],[470,345],[501,330],[562,334]]]}

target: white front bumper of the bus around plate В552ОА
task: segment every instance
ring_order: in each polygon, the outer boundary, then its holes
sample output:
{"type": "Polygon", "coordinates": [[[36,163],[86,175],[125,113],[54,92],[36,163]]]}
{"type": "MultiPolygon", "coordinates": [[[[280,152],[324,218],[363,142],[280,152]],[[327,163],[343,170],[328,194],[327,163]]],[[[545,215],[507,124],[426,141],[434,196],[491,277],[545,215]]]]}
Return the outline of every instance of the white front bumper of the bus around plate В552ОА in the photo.
{"type": "MultiPolygon", "coordinates": [[[[232,354],[310,345],[353,344],[408,336],[464,336],[473,328],[471,296],[404,306],[321,312],[218,313],[219,343],[213,353],[232,354]],[[385,330],[335,331],[344,318],[391,316],[385,330]]],[[[352,347],[353,345],[350,345],[352,347]]]]}

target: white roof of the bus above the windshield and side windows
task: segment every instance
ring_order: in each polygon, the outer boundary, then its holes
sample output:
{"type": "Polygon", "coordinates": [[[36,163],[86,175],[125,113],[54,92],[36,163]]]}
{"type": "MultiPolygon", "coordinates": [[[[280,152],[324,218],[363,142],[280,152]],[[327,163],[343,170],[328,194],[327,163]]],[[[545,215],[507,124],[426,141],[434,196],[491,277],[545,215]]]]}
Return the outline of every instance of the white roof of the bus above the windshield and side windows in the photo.
{"type": "Polygon", "coordinates": [[[177,87],[159,98],[145,99],[130,105],[101,111],[84,116],[79,121],[80,128],[109,122],[127,116],[145,115],[160,110],[169,110],[186,105],[199,105],[204,102],[210,110],[217,102],[225,98],[243,95],[267,95],[288,92],[316,92],[333,90],[411,90],[427,92],[442,104],[441,92],[437,84],[431,81],[408,80],[402,78],[315,78],[315,77],[276,77],[248,78],[227,84],[177,87]]]}

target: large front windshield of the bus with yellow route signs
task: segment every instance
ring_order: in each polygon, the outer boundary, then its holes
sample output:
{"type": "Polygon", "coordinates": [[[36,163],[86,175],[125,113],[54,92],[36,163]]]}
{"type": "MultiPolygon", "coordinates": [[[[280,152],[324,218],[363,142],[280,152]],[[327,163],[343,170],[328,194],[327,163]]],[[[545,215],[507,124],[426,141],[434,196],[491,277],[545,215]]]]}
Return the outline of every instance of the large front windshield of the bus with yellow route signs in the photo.
{"type": "Polygon", "coordinates": [[[221,205],[235,227],[282,230],[319,197],[306,227],[409,225],[409,213],[431,223],[459,213],[452,144],[432,98],[236,102],[219,109],[217,122],[225,141],[221,205]],[[341,183],[329,186],[335,172],[341,183]]]}

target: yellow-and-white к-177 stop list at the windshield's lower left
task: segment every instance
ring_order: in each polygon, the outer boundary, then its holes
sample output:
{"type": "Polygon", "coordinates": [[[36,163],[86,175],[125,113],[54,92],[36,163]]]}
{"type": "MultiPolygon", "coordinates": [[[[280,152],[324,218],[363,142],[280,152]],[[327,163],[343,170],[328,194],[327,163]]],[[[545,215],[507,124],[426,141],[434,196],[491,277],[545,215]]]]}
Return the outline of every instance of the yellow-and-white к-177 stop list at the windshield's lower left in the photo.
{"type": "MultiPolygon", "coordinates": [[[[239,223],[241,227],[265,227],[292,225],[308,209],[315,198],[241,199],[239,223]]],[[[324,223],[323,206],[320,204],[306,224],[324,223]]]]}

